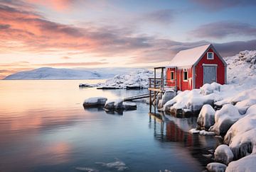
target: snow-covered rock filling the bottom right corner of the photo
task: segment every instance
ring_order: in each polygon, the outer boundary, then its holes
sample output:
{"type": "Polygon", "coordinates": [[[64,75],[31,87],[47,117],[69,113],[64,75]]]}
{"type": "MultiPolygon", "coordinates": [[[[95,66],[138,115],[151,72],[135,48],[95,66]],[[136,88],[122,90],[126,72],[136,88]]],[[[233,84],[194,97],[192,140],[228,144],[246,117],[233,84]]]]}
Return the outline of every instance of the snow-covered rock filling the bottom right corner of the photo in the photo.
{"type": "Polygon", "coordinates": [[[232,161],[228,164],[226,172],[254,172],[256,169],[256,154],[245,156],[238,161],[232,161]]]}

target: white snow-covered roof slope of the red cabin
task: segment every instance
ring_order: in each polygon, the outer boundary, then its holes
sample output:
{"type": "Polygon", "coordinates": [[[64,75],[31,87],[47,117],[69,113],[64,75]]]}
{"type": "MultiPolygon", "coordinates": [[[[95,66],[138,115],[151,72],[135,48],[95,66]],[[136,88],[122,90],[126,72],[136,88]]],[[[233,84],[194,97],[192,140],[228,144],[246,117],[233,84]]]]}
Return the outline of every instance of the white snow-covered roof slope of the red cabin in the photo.
{"type": "Polygon", "coordinates": [[[191,67],[198,61],[203,53],[206,52],[208,47],[210,47],[210,44],[194,47],[188,50],[182,50],[171,60],[170,66],[191,67]]]}

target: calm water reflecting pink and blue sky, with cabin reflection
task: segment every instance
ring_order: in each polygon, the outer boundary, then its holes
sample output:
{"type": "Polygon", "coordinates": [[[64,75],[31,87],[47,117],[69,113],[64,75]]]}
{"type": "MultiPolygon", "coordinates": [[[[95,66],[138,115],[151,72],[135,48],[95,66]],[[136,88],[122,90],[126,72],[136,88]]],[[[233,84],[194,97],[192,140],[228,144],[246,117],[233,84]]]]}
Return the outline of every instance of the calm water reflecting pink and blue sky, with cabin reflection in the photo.
{"type": "Polygon", "coordinates": [[[203,171],[215,137],[186,132],[196,117],[149,116],[149,107],[122,115],[84,110],[92,96],[144,91],[78,88],[80,82],[0,81],[0,171],[203,171]]]}

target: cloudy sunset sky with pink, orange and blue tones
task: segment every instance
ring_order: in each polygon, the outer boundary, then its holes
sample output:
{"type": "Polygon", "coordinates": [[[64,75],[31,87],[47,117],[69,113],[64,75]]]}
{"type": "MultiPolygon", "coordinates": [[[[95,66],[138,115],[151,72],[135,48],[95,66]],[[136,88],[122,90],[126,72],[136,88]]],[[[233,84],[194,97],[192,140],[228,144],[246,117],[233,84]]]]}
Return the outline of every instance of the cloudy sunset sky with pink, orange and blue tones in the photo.
{"type": "Polygon", "coordinates": [[[0,0],[0,79],[39,67],[168,65],[212,43],[256,50],[255,0],[0,0]]]}

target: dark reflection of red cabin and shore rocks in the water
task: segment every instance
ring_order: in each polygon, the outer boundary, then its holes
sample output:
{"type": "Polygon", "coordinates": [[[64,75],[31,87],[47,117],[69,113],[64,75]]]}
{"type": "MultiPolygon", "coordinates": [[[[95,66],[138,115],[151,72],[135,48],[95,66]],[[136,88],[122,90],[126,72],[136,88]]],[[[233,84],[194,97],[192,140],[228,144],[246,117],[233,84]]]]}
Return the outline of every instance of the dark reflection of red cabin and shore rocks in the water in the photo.
{"type": "Polygon", "coordinates": [[[213,136],[191,134],[188,131],[196,127],[197,117],[177,118],[163,113],[149,114],[149,127],[154,126],[154,137],[159,142],[178,142],[190,154],[198,159],[202,166],[213,162],[204,155],[218,147],[220,140],[213,136]]]}

